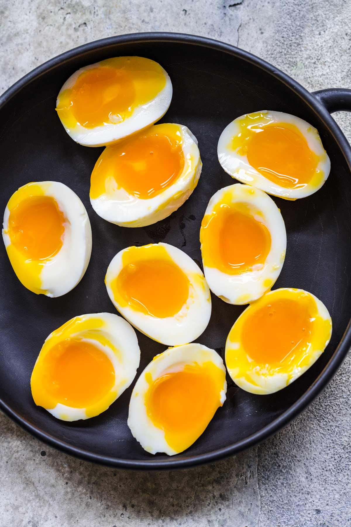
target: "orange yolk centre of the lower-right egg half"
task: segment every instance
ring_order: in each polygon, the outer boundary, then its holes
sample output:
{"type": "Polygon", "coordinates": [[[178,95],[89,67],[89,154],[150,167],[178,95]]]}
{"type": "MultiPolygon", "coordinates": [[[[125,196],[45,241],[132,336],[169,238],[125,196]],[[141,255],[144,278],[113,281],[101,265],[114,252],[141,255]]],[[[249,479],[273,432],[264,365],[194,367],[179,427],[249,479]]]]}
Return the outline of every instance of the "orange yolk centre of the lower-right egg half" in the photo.
{"type": "Polygon", "coordinates": [[[285,363],[306,350],[312,330],[308,298],[275,299],[245,320],[241,340],[258,364],[285,363]]]}

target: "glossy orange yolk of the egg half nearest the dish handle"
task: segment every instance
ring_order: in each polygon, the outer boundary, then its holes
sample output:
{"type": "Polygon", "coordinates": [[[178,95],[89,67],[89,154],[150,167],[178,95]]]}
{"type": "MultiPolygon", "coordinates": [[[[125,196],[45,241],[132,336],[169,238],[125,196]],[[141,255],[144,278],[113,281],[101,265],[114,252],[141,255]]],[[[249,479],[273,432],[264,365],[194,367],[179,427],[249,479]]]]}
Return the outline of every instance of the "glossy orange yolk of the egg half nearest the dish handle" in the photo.
{"type": "Polygon", "coordinates": [[[247,150],[252,167],[288,189],[305,187],[318,164],[317,155],[308,148],[302,133],[292,128],[285,124],[264,128],[253,135],[247,150]]]}

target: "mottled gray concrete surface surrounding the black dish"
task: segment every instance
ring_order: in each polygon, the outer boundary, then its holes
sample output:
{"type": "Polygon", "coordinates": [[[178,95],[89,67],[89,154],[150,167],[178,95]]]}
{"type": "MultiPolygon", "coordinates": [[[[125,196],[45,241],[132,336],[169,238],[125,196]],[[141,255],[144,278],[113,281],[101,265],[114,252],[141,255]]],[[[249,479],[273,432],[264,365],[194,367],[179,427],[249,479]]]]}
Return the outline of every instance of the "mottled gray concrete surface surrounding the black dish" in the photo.
{"type": "MultiPolygon", "coordinates": [[[[1,0],[0,21],[1,91],[69,48],[151,30],[238,43],[309,90],[351,87],[350,0],[1,0]]],[[[336,120],[351,140],[351,116],[336,120]]],[[[344,527],[351,523],[350,370],[347,358],[312,406],[259,447],[176,473],[93,466],[0,415],[0,527],[344,527]]]]}

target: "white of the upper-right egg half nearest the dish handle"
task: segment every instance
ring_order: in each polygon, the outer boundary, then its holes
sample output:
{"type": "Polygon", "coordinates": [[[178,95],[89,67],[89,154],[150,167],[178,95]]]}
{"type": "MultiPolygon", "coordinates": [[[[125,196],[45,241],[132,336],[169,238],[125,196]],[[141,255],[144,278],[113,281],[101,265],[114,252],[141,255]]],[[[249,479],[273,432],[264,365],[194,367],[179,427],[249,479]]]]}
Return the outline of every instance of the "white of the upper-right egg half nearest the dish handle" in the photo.
{"type": "Polygon", "coordinates": [[[263,174],[249,164],[247,155],[239,154],[230,148],[232,138],[238,136],[240,133],[244,133],[239,123],[244,115],[240,115],[240,117],[234,119],[234,121],[226,126],[222,134],[220,134],[217,153],[218,161],[223,169],[233,178],[242,183],[253,185],[260,190],[268,192],[268,194],[273,194],[273,196],[279,196],[285,199],[294,200],[297,198],[305,198],[320,189],[328,178],[330,172],[330,160],[323,148],[322,141],[320,140],[316,128],[303,119],[288,113],[272,112],[268,110],[255,112],[255,114],[256,113],[261,114],[262,116],[259,122],[267,121],[270,123],[289,123],[295,125],[306,139],[309,149],[322,157],[316,170],[323,170],[323,180],[318,186],[312,186],[312,184],[307,183],[304,188],[288,189],[265,178],[263,174]]]}

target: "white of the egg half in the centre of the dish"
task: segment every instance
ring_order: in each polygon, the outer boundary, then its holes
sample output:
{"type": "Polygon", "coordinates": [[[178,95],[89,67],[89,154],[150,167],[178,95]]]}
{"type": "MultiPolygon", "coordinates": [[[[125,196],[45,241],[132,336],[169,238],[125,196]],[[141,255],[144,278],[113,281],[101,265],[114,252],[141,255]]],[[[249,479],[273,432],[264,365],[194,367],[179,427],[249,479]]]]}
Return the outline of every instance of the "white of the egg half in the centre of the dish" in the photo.
{"type": "MultiPolygon", "coordinates": [[[[187,344],[201,335],[208,325],[211,315],[208,286],[201,269],[185,252],[168,243],[151,245],[164,247],[169,257],[190,281],[189,296],[182,309],[172,317],[158,318],[136,311],[129,305],[118,304],[111,284],[123,269],[123,253],[128,248],[119,251],[107,268],[105,283],[108,296],[119,313],[148,337],[171,346],[187,344]]],[[[167,302],[166,298],[165,302],[167,302]]]]}

